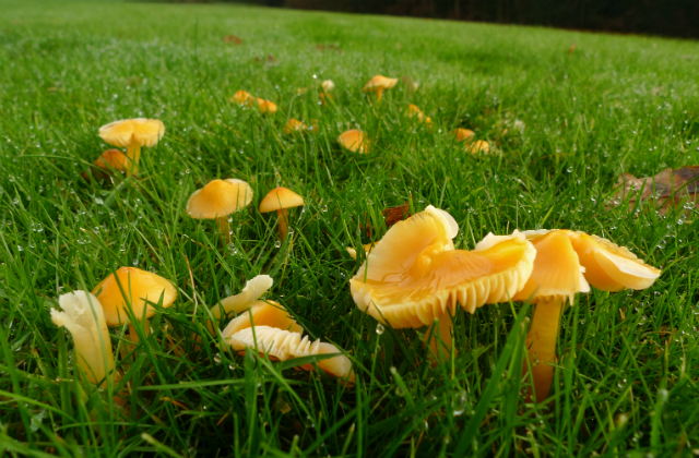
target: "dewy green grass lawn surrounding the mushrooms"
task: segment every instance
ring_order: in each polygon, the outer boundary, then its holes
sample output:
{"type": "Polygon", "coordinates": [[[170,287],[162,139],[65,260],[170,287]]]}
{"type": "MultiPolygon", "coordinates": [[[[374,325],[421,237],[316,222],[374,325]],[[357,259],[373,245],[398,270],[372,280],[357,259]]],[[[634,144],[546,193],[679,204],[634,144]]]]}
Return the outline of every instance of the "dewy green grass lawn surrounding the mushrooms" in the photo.
{"type": "MultiPolygon", "coordinates": [[[[0,16],[0,450],[7,456],[628,456],[699,453],[695,214],[607,209],[621,172],[699,162],[699,45],[544,28],[232,5],[12,2],[0,16]],[[234,34],[244,44],[222,41],[234,34]],[[572,53],[566,52],[574,43],[572,53]],[[318,48],[321,46],[321,48],[318,48]],[[271,56],[271,58],[268,58],[271,56]],[[410,76],[370,105],[375,74],[410,76]],[[318,105],[332,79],[335,104],[318,105]],[[308,87],[298,96],[298,87],[308,87]],[[274,100],[260,116],[238,89],[274,100]],[[435,128],[408,122],[414,103],[435,128]],[[163,120],[138,181],[80,177],[107,148],[97,129],[163,120]],[[282,135],[289,118],[319,132],[282,135]],[[525,123],[520,134],[503,123],[525,123]],[[495,146],[471,156],[448,132],[495,146]],[[368,155],[336,136],[360,128],[368,155]],[[253,206],[234,243],[189,218],[189,195],[239,178],[253,206]],[[304,195],[294,236],[254,209],[284,184],[304,195]],[[521,379],[525,316],[506,303],[457,315],[460,353],[431,367],[419,332],[355,306],[345,246],[386,231],[380,210],[447,209],[458,248],[488,232],[570,228],[629,246],[663,275],[645,291],[580,296],[561,318],[552,402],[521,379]],[[685,221],[686,219],[686,221],[685,221]],[[119,266],[171,280],[175,304],[127,373],[129,409],[81,382],[59,294],[119,266]],[[313,338],[345,349],[345,387],[318,372],[223,351],[204,306],[269,274],[269,294],[313,338]],[[523,330],[524,329],[524,330],[523,330]],[[192,333],[205,345],[197,350],[192,333]],[[176,350],[179,349],[179,350],[176,350]]],[[[123,347],[126,329],[112,329],[123,347]]],[[[116,349],[118,351],[118,349],[116,349]]]]}

